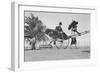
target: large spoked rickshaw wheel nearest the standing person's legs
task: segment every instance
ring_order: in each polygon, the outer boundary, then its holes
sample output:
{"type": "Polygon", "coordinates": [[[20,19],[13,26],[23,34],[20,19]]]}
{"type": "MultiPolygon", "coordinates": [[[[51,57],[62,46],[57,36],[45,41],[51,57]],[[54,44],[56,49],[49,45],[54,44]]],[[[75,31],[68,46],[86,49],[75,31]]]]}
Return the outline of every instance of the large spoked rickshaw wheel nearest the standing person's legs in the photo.
{"type": "Polygon", "coordinates": [[[67,49],[69,45],[69,39],[68,40],[57,40],[55,41],[55,45],[58,49],[67,49]]]}

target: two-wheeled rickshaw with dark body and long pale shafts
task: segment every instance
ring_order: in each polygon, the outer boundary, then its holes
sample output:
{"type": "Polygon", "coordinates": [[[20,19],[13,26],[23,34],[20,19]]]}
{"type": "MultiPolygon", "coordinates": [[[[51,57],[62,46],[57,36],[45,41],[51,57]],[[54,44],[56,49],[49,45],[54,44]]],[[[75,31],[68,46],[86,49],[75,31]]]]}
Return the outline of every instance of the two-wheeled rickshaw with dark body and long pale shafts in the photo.
{"type": "Polygon", "coordinates": [[[80,35],[75,34],[75,35],[68,36],[64,32],[59,33],[56,30],[47,29],[45,34],[46,34],[46,37],[49,38],[49,40],[36,42],[35,47],[36,49],[54,48],[54,47],[56,47],[57,49],[67,49],[70,43],[70,39],[73,36],[78,37],[87,33],[89,33],[89,31],[81,32],[80,35]]]}

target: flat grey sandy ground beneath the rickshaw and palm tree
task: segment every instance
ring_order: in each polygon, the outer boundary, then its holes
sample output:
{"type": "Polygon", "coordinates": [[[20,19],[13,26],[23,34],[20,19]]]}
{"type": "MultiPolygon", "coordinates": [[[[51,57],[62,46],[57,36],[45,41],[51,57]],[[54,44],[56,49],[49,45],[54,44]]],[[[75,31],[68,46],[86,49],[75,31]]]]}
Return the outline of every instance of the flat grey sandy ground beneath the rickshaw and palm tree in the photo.
{"type": "Polygon", "coordinates": [[[78,49],[57,49],[45,48],[41,50],[25,50],[24,60],[43,61],[43,60],[71,60],[71,59],[89,59],[90,48],[78,47],[78,49]]]}

